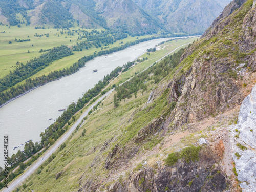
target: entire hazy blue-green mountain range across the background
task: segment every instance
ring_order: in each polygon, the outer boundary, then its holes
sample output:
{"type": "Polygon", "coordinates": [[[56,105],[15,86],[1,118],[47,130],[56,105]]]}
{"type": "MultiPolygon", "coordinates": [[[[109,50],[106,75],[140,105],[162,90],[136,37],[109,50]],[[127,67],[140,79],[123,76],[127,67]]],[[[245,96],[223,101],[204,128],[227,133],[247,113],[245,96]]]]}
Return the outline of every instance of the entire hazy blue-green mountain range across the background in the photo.
{"type": "Polygon", "coordinates": [[[0,22],[112,28],[130,35],[201,34],[229,0],[0,0],[0,22]],[[19,15],[19,13],[21,15],[19,15]],[[19,15],[19,16],[18,16],[19,15]]]}

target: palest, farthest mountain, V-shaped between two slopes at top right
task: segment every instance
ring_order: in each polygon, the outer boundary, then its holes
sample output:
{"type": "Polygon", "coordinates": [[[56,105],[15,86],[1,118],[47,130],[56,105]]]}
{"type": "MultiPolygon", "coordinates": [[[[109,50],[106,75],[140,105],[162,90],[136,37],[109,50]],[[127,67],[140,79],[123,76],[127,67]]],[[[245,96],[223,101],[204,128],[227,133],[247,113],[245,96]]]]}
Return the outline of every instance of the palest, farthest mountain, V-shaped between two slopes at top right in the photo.
{"type": "Polygon", "coordinates": [[[202,34],[230,0],[133,0],[172,32],[202,34]]]}

